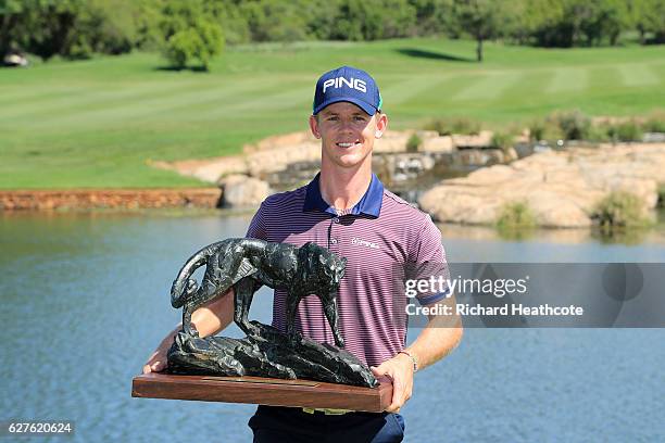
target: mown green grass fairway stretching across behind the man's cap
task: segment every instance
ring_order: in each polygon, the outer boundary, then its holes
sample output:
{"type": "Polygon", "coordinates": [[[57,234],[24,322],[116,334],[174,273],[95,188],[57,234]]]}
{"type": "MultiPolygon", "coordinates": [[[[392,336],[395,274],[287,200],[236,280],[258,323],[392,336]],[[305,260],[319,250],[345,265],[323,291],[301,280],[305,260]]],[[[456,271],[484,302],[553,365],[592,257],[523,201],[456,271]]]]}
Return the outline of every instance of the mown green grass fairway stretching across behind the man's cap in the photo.
{"type": "Polygon", "coordinates": [[[436,116],[499,127],[555,110],[645,114],[665,105],[665,47],[536,49],[406,39],[229,48],[212,72],[173,72],[156,54],[0,69],[0,188],[200,186],[151,160],[240,152],[306,129],[314,83],[350,64],[381,87],[392,128],[436,116]]]}

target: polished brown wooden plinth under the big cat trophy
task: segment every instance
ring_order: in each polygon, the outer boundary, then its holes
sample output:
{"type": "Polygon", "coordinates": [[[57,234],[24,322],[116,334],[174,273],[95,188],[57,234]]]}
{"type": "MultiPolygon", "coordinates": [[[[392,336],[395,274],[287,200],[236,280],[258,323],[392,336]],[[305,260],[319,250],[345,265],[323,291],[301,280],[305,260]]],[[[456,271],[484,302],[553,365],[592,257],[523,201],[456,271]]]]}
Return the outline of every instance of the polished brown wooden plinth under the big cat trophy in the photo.
{"type": "Polygon", "coordinates": [[[380,413],[390,405],[392,384],[359,388],[311,380],[150,372],[134,378],[131,396],[380,413]]]}

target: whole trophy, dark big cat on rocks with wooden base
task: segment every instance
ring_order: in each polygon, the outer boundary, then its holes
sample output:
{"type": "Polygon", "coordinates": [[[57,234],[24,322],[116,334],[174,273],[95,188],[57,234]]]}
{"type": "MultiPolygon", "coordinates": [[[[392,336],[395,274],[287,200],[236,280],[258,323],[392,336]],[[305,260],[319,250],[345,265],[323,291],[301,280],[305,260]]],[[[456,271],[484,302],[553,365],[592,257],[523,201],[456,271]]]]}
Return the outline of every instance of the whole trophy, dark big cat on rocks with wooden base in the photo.
{"type": "Polygon", "coordinates": [[[337,291],[346,258],[315,243],[294,246],[256,239],[226,239],[193,254],[178,273],[171,303],[183,308],[183,328],[168,351],[164,374],[134,379],[133,395],[265,405],[380,412],[392,387],[343,350],[338,327],[337,291]],[[205,265],[201,282],[192,278],[205,265]],[[262,287],[285,290],[286,332],[248,314],[262,287]],[[200,338],[191,314],[234,291],[234,321],[244,339],[200,338]],[[294,330],[299,302],[315,294],[335,338],[335,346],[294,330]]]}

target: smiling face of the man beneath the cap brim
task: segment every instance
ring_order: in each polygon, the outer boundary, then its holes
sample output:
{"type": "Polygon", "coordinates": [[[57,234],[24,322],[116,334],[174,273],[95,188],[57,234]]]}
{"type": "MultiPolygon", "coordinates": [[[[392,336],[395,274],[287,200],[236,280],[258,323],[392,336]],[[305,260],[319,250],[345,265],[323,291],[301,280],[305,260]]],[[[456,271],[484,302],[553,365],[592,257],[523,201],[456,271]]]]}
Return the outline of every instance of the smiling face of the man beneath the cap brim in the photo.
{"type": "Polygon", "coordinates": [[[349,168],[362,164],[388,124],[385,114],[367,115],[353,103],[338,102],[310,117],[310,127],[322,139],[324,162],[349,168]]]}

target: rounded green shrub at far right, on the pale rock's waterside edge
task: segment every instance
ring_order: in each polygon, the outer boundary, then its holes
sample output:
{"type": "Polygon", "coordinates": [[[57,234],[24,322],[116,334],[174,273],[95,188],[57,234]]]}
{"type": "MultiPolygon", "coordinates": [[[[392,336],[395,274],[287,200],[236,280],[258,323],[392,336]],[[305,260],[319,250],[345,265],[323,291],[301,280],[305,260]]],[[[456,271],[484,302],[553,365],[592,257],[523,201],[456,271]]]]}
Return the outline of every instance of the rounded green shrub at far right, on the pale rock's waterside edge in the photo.
{"type": "Polygon", "coordinates": [[[591,218],[603,229],[631,228],[649,224],[640,199],[625,191],[613,191],[601,200],[591,218]]]}

